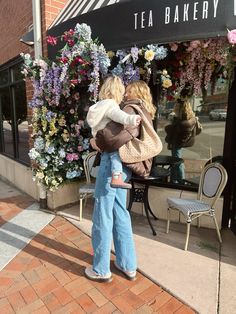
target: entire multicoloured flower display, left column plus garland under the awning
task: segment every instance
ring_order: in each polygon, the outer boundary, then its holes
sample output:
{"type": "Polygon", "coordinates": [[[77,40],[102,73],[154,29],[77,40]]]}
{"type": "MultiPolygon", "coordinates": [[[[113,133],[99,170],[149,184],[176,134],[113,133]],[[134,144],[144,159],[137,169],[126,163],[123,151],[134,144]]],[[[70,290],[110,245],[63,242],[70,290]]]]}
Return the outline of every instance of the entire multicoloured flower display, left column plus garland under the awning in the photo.
{"type": "Polygon", "coordinates": [[[106,52],[92,39],[88,25],[77,24],[60,38],[47,38],[51,45],[58,40],[65,45],[54,62],[22,55],[22,72],[34,87],[29,156],[34,178],[49,190],[83,175],[91,136],[86,113],[107,74],[120,76],[124,84],[142,79],[157,85],[159,101],[164,102],[186,88],[199,95],[218,77],[229,77],[231,48],[226,38],[106,52]]]}

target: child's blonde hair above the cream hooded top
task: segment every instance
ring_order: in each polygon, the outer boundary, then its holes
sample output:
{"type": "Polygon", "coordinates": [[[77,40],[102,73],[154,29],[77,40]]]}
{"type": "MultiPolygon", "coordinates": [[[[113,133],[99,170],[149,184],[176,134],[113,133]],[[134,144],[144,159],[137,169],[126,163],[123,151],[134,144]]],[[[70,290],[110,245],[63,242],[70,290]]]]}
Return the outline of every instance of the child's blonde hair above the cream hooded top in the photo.
{"type": "Polygon", "coordinates": [[[112,75],[107,77],[100,89],[99,100],[114,99],[120,104],[125,93],[125,86],[119,76],[112,75]]]}

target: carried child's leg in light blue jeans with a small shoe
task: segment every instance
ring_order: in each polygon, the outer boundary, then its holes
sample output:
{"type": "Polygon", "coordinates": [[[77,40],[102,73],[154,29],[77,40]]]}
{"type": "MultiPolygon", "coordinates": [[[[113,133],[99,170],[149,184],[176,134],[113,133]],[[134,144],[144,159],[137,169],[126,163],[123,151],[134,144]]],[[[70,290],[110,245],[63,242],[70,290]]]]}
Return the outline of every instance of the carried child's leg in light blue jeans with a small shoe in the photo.
{"type": "Polygon", "coordinates": [[[113,188],[123,188],[123,189],[130,189],[131,184],[125,183],[122,179],[122,162],[120,160],[119,153],[117,151],[109,153],[109,157],[111,160],[111,172],[112,172],[112,179],[111,179],[111,186],[113,188]]]}

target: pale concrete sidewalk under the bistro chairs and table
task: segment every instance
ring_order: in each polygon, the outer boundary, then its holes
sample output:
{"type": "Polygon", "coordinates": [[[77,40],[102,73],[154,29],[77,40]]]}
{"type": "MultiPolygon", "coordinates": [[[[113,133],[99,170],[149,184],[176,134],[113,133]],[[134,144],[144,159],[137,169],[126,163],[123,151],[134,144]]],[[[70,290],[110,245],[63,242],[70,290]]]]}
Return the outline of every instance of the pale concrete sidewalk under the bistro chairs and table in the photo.
{"type": "MultiPolygon", "coordinates": [[[[78,220],[78,206],[61,214],[90,235],[92,202],[78,220]]],[[[153,221],[153,236],[146,217],[132,213],[133,232],[139,270],[201,314],[236,313],[236,237],[222,230],[219,245],[216,231],[191,227],[188,251],[184,251],[186,226],[171,223],[166,234],[165,221],[153,221]]]]}

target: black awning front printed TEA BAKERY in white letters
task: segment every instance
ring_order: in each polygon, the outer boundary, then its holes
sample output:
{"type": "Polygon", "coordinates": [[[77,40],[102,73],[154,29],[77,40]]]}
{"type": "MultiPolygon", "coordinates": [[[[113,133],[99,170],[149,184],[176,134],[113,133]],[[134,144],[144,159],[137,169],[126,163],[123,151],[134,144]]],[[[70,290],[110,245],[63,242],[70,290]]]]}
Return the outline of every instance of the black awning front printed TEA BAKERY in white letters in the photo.
{"type": "MultiPolygon", "coordinates": [[[[107,49],[223,36],[236,28],[236,0],[135,0],[76,16],[48,31],[59,36],[87,23],[107,49]]],[[[49,57],[58,47],[49,46],[49,57]]]]}

